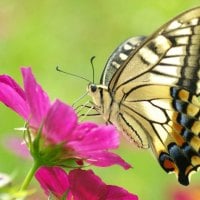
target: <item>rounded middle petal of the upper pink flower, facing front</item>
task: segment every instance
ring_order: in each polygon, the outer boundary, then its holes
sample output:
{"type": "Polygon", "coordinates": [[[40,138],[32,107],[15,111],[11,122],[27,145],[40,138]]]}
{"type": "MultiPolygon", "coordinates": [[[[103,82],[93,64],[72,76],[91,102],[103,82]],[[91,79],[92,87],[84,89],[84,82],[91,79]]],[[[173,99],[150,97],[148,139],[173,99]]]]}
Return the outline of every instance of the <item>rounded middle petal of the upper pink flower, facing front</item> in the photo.
{"type": "Polygon", "coordinates": [[[44,132],[55,143],[65,142],[77,126],[77,116],[72,107],[56,100],[44,121],[44,132]]]}

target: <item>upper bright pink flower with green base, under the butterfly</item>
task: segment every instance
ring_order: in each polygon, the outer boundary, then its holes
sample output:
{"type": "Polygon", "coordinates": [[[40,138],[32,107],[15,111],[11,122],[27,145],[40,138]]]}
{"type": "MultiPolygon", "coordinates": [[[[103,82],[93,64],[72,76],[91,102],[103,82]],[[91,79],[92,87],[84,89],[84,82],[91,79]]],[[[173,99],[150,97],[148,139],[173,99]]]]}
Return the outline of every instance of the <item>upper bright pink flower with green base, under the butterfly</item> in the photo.
{"type": "Polygon", "coordinates": [[[83,160],[96,166],[131,166],[109,152],[119,146],[113,126],[78,123],[72,107],[60,100],[51,103],[36,82],[30,68],[22,68],[24,89],[11,77],[0,76],[0,101],[28,122],[34,136],[29,144],[32,156],[42,165],[67,165],[69,159],[83,160]],[[46,163],[45,163],[46,162],[46,163]]]}

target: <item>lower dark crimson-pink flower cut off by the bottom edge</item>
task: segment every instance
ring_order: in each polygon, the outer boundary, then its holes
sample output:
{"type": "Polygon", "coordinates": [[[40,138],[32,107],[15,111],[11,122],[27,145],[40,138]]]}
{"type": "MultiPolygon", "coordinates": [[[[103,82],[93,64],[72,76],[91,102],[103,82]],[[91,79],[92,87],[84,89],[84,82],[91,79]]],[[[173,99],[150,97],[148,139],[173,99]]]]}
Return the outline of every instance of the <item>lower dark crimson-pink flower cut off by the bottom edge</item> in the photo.
{"type": "Polygon", "coordinates": [[[59,167],[42,167],[36,178],[47,195],[59,199],[66,195],[67,200],[138,200],[123,188],[106,185],[92,170],[75,169],[67,175],[59,167]]]}

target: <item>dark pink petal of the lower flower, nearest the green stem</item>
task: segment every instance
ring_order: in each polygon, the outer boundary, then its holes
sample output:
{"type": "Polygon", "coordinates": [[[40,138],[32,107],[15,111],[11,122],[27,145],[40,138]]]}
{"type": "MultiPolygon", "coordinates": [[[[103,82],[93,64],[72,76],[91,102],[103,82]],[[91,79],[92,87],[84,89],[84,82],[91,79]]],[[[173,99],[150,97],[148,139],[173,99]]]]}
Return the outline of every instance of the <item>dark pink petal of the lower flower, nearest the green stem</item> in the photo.
{"type": "Polygon", "coordinates": [[[47,195],[59,198],[69,189],[68,175],[60,167],[40,167],[35,177],[47,195]]]}

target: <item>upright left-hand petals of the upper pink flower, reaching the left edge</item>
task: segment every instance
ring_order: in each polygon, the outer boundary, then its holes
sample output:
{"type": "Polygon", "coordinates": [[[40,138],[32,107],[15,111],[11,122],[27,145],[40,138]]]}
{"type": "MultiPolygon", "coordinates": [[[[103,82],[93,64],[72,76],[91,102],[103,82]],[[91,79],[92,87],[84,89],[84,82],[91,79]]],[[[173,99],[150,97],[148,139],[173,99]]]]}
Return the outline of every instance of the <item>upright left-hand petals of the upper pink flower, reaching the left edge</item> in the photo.
{"type": "Polygon", "coordinates": [[[50,100],[30,68],[22,68],[24,90],[8,75],[0,76],[0,101],[38,128],[50,108],[50,100]]]}

